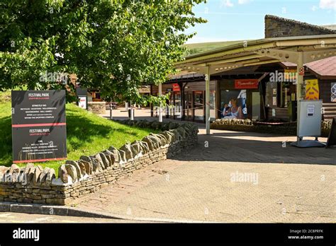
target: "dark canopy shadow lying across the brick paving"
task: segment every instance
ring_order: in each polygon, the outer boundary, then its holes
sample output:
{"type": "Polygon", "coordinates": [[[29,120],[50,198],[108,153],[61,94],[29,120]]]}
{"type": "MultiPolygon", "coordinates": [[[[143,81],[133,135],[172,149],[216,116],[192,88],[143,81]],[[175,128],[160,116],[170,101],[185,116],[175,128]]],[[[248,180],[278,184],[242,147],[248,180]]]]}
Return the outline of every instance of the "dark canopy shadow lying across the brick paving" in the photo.
{"type": "Polygon", "coordinates": [[[210,136],[199,134],[198,146],[173,159],[336,165],[336,148],[296,148],[290,145],[295,138],[250,132],[215,131],[210,136]],[[283,142],[286,142],[286,146],[283,142]]]}

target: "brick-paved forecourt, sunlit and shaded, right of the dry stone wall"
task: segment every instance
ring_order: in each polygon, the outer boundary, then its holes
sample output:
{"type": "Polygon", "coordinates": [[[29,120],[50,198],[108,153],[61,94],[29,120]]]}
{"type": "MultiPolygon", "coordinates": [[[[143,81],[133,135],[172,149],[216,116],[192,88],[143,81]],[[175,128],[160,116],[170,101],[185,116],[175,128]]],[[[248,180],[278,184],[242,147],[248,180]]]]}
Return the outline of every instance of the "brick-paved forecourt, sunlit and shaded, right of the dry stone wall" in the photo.
{"type": "Polygon", "coordinates": [[[295,148],[293,136],[204,133],[183,156],[138,170],[75,206],[148,220],[336,222],[336,149],[295,148]]]}

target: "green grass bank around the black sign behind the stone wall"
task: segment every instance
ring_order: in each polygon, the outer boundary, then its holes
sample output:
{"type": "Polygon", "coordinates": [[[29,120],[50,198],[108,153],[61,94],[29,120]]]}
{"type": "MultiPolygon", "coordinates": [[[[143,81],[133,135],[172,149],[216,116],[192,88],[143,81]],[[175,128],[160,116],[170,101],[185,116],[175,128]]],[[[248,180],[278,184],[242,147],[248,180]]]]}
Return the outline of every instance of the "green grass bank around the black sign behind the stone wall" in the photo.
{"type": "MultiPolygon", "coordinates": [[[[11,99],[3,100],[3,98],[4,94],[0,96],[0,165],[10,166],[12,164],[11,99]]],[[[138,129],[103,119],[74,104],[67,104],[66,115],[69,160],[78,160],[83,155],[93,155],[109,146],[120,148],[127,142],[140,140],[150,132],[156,132],[153,129],[138,129]]],[[[54,168],[58,172],[58,167],[62,163],[65,163],[65,160],[35,163],[35,165],[54,168]]]]}

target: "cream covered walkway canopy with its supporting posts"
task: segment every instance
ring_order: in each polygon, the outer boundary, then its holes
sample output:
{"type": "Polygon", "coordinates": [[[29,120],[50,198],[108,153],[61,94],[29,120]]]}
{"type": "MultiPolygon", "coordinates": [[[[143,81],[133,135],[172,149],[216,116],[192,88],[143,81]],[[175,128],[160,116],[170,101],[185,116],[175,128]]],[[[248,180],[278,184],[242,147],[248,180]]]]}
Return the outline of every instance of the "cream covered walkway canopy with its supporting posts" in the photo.
{"type": "MultiPolygon", "coordinates": [[[[242,66],[291,62],[297,64],[296,98],[303,99],[303,64],[336,56],[336,35],[276,37],[245,41],[194,54],[175,64],[180,74],[204,74],[206,79],[206,134],[210,134],[210,76],[242,66]]],[[[336,64],[334,64],[336,69],[336,64]]]]}

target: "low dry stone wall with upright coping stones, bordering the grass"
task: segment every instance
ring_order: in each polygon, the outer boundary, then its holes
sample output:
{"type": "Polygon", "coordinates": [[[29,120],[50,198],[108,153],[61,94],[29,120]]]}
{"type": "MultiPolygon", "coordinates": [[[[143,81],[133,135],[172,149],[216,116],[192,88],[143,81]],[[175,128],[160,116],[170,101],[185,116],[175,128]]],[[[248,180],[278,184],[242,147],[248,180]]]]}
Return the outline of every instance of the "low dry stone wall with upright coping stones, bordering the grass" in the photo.
{"type": "Polygon", "coordinates": [[[85,194],[111,185],[135,170],[179,155],[197,144],[195,124],[121,121],[135,127],[162,130],[117,149],[108,149],[79,160],[67,160],[58,170],[28,163],[19,168],[0,166],[0,201],[65,205],[85,194]]]}

